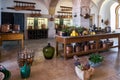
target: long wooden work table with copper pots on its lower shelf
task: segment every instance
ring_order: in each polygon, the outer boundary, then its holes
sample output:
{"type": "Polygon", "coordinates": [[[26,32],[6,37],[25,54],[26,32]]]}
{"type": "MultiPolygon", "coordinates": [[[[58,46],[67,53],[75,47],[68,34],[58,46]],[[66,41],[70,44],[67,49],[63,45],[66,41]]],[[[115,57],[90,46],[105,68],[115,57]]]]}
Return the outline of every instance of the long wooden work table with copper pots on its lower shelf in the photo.
{"type": "Polygon", "coordinates": [[[106,34],[96,34],[96,35],[85,35],[85,36],[77,36],[77,37],[70,37],[70,36],[58,36],[56,35],[56,55],[58,55],[60,53],[59,51],[59,43],[64,44],[63,47],[63,56],[64,58],[68,58],[68,57],[73,57],[74,55],[83,55],[83,54],[87,54],[87,53],[92,53],[92,52],[98,52],[98,51],[102,51],[105,49],[102,48],[98,48],[99,45],[99,41],[101,39],[108,39],[108,38],[118,38],[118,44],[108,47],[109,48],[114,48],[114,47],[118,47],[120,49],[120,33],[106,33],[106,34]],[[95,41],[96,42],[96,48],[94,50],[89,50],[87,52],[79,52],[79,53],[71,53],[71,54],[66,54],[66,45],[67,44],[71,44],[71,43],[76,43],[76,42],[84,42],[84,41],[95,41]]]}

